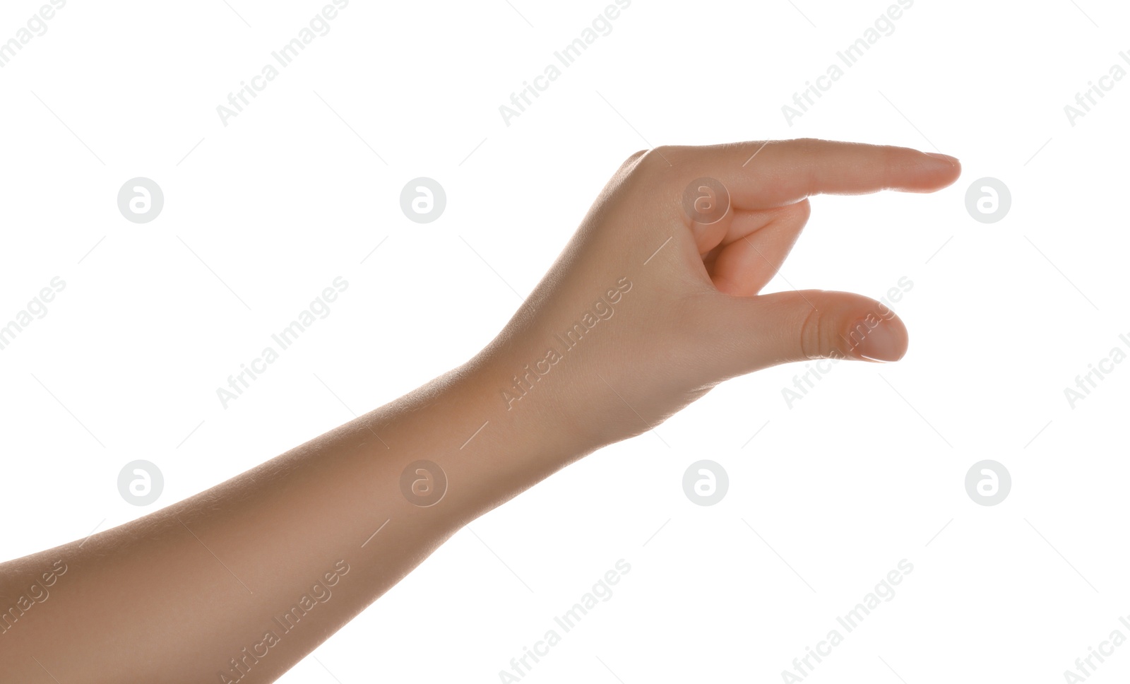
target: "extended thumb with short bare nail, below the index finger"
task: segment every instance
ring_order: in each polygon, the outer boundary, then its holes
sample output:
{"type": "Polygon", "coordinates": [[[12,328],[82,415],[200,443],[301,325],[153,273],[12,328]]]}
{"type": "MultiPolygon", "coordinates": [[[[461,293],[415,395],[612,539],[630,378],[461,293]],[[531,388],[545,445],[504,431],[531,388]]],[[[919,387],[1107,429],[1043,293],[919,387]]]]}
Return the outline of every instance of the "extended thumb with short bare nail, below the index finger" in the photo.
{"type": "Polygon", "coordinates": [[[727,296],[722,313],[725,376],[810,358],[898,361],[909,341],[890,308],[849,292],[727,296]]]}

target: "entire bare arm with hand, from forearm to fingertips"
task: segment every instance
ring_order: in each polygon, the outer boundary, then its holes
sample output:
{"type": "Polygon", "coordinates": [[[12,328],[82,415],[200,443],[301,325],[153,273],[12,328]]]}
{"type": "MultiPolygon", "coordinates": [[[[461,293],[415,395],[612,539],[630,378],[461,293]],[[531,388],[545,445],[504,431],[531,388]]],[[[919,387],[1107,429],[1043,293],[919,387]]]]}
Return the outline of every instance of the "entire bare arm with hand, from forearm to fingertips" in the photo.
{"type": "Polygon", "coordinates": [[[0,564],[5,681],[272,682],[464,525],[719,382],[901,358],[906,329],[875,300],[758,292],[809,196],[931,192],[959,173],[942,155],[807,139],[633,155],[462,366],[188,500],[0,564]],[[683,204],[703,176],[730,194],[709,225],[683,204]]]}

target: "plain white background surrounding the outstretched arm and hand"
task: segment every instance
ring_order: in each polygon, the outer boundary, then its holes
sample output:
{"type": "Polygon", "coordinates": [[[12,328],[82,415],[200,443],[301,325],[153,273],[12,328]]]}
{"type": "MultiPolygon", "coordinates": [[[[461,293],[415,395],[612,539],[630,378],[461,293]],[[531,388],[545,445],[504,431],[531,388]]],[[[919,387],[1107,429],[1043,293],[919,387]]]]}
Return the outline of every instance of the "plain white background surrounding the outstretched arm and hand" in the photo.
{"type": "MultiPolygon", "coordinates": [[[[38,6],[5,2],[0,40],[38,6]]],[[[354,0],[226,127],[216,106],[322,2],[59,10],[0,69],[0,322],[67,284],[0,352],[2,556],[173,504],[464,362],[631,153],[822,137],[963,162],[931,196],[816,198],[768,288],[878,298],[905,276],[906,357],[841,363],[791,408],[803,364],[718,388],[455,535],[280,681],[497,682],[619,559],[612,598],[527,681],[781,681],[902,559],[811,681],[1060,682],[1130,637],[1130,364],[1075,408],[1063,392],[1130,350],[1130,79],[1075,125],[1063,110],[1130,69],[1130,9],[918,0],[789,125],[887,2],[636,0],[506,125],[605,6],[354,0]],[[164,190],[153,223],[118,210],[136,176],[164,190]],[[417,176],[446,190],[435,223],[401,213],[417,176]],[[996,224],[965,208],[982,176],[1011,190],[996,224]],[[216,388],[336,276],[332,312],[223,408],[216,388]],[[164,473],[149,506],[116,487],[134,459],[164,473]],[[729,473],[718,505],[683,492],[699,459],[729,473]],[[982,459],[1012,476],[996,506],[965,491],[982,459]]],[[[1130,644],[1092,681],[1128,674],[1130,644]]]]}

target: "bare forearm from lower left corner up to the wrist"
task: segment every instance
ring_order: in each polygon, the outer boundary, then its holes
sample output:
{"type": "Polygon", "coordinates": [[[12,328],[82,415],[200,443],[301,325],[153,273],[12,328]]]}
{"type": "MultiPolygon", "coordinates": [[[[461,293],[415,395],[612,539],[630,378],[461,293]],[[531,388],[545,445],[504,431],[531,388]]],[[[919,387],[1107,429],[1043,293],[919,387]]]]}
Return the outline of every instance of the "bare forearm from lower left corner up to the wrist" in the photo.
{"type": "Polygon", "coordinates": [[[488,366],[469,364],[167,509],[0,565],[0,609],[16,607],[0,621],[6,675],[272,681],[462,526],[584,453],[555,412],[506,410],[488,366]],[[446,478],[431,505],[426,480],[424,496],[402,492],[418,460],[446,478]],[[64,573],[34,590],[47,598],[20,608],[55,561],[64,573]]]}

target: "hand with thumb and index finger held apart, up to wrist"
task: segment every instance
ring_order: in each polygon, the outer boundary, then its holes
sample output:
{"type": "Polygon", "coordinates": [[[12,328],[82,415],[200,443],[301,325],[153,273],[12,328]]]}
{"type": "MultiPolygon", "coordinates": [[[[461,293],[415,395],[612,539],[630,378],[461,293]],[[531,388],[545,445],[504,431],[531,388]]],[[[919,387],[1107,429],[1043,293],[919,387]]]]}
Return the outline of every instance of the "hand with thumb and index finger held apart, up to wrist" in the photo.
{"type": "Polygon", "coordinates": [[[655,426],[728,378],[810,358],[897,361],[906,328],[872,298],[758,293],[810,196],[932,192],[959,174],[946,155],[812,139],[636,153],[477,361],[498,407],[564,414],[583,451],[655,426]],[[718,192],[692,185],[703,178],[718,192]],[[696,198],[713,214],[688,214],[696,198]]]}

